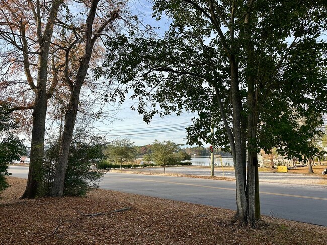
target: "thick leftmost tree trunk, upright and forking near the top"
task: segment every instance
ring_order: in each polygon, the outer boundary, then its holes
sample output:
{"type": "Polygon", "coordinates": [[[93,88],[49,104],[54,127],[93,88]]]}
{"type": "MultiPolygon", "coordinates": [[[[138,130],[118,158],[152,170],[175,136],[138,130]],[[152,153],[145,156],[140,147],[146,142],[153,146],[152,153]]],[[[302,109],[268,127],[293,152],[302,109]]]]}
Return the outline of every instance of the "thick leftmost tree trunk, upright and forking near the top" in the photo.
{"type": "MultiPolygon", "coordinates": [[[[48,75],[48,55],[50,49],[50,41],[53,34],[53,25],[55,16],[62,3],[62,0],[55,1],[49,13],[49,20],[45,26],[42,36],[42,24],[40,13],[36,17],[37,21],[37,35],[39,37],[39,63],[38,63],[38,78],[37,78],[37,92],[34,102],[33,110],[33,127],[31,139],[31,158],[30,167],[27,178],[27,185],[24,194],[21,198],[35,198],[38,194],[40,184],[42,182],[42,165],[44,155],[44,135],[45,135],[45,118],[47,111],[47,75],[48,75]]],[[[36,9],[40,8],[39,1],[36,2],[36,9]]],[[[24,37],[25,38],[25,37],[24,37]]]]}

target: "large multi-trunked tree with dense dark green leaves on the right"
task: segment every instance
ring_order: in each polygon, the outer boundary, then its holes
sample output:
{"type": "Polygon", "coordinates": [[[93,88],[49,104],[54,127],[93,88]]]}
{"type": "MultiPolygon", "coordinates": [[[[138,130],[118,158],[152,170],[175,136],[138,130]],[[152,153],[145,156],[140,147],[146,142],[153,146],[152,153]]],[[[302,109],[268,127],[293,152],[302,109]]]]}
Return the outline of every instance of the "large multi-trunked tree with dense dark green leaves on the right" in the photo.
{"type": "Polygon", "coordinates": [[[120,82],[108,97],[124,100],[133,90],[132,109],[145,121],[197,112],[188,143],[232,152],[235,219],[255,226],[260,148],[299,159],[318,151],[310,139],[327,108],[324,2],[157,0],[154,16],[170,19],[163,36],[108,43],[99,76],[120,82]]]}

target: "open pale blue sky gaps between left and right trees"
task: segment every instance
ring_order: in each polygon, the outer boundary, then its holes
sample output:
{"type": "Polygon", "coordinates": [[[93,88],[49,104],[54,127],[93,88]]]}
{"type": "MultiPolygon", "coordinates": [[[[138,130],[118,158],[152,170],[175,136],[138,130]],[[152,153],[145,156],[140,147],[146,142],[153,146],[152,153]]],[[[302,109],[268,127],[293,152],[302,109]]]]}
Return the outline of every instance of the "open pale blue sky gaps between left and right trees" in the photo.
{"type": "MultiPolygon", "coordinates": [[[[162,18],[156,22],[152,18],[151,3],[146,0],[132,1],[131,10],[138,14],[145,24],[160,27],[160,30],[166,30],[169,27],[169,21],[162,18]]],[[[191,118],[196,114],[182,113],[180,116],[175,114],[160,118],[155,116],[150,124],[146,124],[142,115],[137,111],[130,109],[135,101],[127,99],[115,116],[116,119],[110,124],[96,123],[95,132],[106,135],[106,139],[114,140],[117,138],[129,138],[137,146],[152,144],[154,140],[165,141],[171,140],[175,143],[186,145],[186,127],[191,125],[191,118]]]]}

